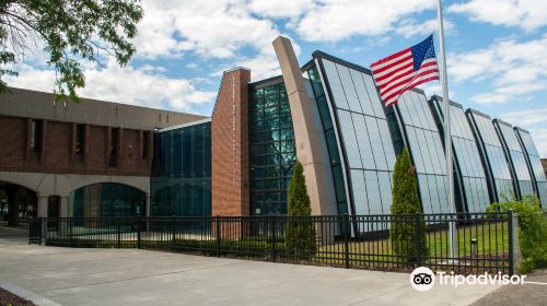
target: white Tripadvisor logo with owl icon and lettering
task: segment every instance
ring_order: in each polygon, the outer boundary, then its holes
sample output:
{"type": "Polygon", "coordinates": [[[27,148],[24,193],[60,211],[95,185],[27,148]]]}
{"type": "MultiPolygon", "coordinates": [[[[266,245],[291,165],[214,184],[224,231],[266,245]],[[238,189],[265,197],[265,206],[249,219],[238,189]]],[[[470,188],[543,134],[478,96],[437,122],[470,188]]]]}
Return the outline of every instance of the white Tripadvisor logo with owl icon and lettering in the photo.
{"type": "Polygon", "coordinates": [[[454,274],[454,272],[438,272],[437,275],[431,271],[431,269],[426,267],[416,268],[410,274],[410,285],[421,292],[429,291],[433,287],[435,282],[439,285],[451,285],[454,287],[458,287],[464,284],[469,285],[508,285],[508,284],[524,284],[524,280],[526,275],[507,275],[501,274],[489,274],[485,272],[484,274],[478,275],[461,275],[454,274]]]}

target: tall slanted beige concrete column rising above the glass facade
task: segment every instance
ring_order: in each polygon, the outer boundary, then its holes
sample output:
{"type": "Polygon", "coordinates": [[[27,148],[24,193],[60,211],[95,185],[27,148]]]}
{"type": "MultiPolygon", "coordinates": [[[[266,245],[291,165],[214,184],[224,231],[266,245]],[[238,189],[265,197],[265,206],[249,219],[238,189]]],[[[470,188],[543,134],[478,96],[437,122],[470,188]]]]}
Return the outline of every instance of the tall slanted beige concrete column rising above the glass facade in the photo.
{"type": "Polygon", "coordinates": [[[312,214],[331,214],[328,203],[327,180],[319,152],[319,138],[315,131],[311,102],[304,86],[304,78],[300,70],[291,40],[279,36],[274,40],[279,66],[291,107],[292,125],[296,157],[304,167],[307,193],[312,202],[312,214]]]}

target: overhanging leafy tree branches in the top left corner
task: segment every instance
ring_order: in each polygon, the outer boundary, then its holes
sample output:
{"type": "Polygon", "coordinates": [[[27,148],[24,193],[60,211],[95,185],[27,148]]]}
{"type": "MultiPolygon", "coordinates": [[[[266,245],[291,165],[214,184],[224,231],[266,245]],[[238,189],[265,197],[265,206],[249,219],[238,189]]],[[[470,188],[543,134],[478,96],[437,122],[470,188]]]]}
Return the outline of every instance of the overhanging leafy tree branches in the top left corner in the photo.
{"type": "Polygon", "coordinates": [[[129,62],[136,49],[130,39],[142,19],[140,0],[3,0],[0,2],[0,93],[7,91],[4,75],[22,61],[33,45],[44,46],[54,67],[54,93],[79,102],[77,89],[85,86],[79,60],[104,67],[114,56],[119,66],[129,62]]]}

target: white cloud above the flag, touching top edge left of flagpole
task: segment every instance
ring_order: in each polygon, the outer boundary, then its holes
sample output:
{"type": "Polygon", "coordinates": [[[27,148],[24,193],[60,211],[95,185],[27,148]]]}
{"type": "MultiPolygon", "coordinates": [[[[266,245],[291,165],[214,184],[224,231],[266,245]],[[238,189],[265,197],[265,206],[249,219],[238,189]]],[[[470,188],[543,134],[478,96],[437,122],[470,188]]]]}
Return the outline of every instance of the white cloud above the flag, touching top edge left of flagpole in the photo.
{"type": "Polygon", "coordinates": [[[295,24],[306,40],[337,42],[353,35],[388,33],[407,14],[434,8],[430,0],[323,0],[295,24]]]}

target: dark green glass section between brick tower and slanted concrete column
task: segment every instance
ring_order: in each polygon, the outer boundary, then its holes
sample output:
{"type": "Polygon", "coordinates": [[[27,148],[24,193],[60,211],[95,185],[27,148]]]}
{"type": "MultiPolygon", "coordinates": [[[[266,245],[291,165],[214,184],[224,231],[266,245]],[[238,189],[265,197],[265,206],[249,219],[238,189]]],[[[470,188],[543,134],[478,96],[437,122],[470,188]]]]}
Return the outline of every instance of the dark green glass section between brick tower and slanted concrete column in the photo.
{"type": "Polygon", "coordinates": [[[252,84],[249,97],[251,213],[286,214],[296,161],[287,91],[279,78],[275,84],[252,84]]]}

